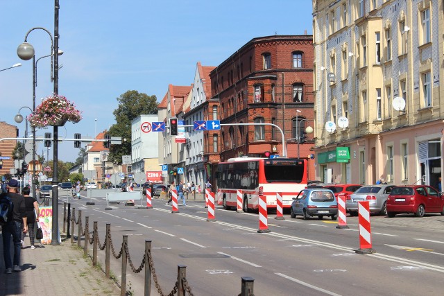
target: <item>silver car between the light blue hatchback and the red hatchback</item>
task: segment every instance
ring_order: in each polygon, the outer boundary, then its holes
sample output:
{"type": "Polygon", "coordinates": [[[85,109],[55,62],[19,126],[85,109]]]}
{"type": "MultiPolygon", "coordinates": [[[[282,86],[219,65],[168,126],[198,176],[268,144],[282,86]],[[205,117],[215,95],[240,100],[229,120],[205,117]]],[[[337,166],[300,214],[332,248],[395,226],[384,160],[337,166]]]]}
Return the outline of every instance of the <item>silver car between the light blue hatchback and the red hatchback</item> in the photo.
{"type": "Polygon", "coordinates": [[[345,209],[350,213],[350,216],[357,216],[358,202],[368,201],[371,213],[386,215],[386,200],[393,187],[395,187],[395,185],[362,186],[357,191],[347,196],[345,209]]]}

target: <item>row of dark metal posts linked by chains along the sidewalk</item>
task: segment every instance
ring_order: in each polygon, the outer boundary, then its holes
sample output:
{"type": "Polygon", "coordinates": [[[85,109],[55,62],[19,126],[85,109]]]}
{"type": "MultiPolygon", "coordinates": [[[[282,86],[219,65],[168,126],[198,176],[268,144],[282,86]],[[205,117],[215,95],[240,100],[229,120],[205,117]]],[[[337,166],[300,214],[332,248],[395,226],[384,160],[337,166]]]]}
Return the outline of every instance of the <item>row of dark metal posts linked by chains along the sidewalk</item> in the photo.
{"type": "MultiPolygon", "coordinates": [[[[157,292],[162,295],[177,295],[185,296],[188,295],[194,296],[191,292],[191,287],[188,284],[188,280],[186,277],[186,268],[185,265],[178,265],[178,279],[174,284],[171,292],[168,294],[164,294],[162,288],[160,287],[159,281],[157,280],[157,274],[154,268],[153,254],[151,253],[151,241],[145,240],[145,253],[142,259],[142,263],[140,263],[139,267],[135,268],[133,260],[131,259],[130,252],[128,250],[128,236],[124,235],[120,250],[116,253],[116,249],[112,243],[111,237],[111,225],[106,224],[106,234],[105,241],[101,244],[98,234],[97,221],[94,221],[93,225],[93,233],[92,237],[89,237],[89,217],[85,217],[85,228],[82,227],[82,211],[78,211],[78,218],[76,218],[76,209],[72,208],[72,213],[69,212],[70,204],[64,203],[64,211],[63,211],[63,229],[65,230],[65,223],[67,223],[67,237],[71,238],[71,243],[74,243],[74,227],[78,225],[77,231],[77,245],[81,247],[81,237],[84,237],[85,245],[83,246],[83,252],[88,255],[88,245],[92,245],[92,265],[96,266],[97,264],[97,252],[98,249],[103,251],[105,250],[105,277],[110,278],[110,256],[114,256],[115,259],[121,258],[121,283],[120,283],[120,295],[126,295],[126,275],[127,275],[127,267],[128,263],[130,265],[131,270],[134,273],[142,272],[145,268],[145,284],[144,284],[144,295],[151,295],[151,279],[154,281],[155,287],[157,288],[157,292]],[[68,210],[67,210],[68,208],[68,210]],[[69,234],[69,223],[71,223],[72,233],[69,234]]],[[[117,283],[119,284],[119,283],[117,283]]],[[[253,294],[253,284],[254,279],[251,277],[241,277],[241,293],[238,296],[254,296],[253,294]]]]}

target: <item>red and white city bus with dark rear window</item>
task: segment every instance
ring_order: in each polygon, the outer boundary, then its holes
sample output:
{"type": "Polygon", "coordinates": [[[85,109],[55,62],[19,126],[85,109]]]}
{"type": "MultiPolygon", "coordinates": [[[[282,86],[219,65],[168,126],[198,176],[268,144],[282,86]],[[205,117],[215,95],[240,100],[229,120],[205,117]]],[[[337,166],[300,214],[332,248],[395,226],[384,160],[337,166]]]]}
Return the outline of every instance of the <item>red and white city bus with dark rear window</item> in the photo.
{"type": "Polygon", "coordinates": [[[289,208],[293,197],[307,187],[307,160],[295,158],[237,157],[218,165],[217,204],[237,208],[237,190],[242,192],[244,211],[259,209],[259,196],[266,195],[267,208],[276,208],[276,193],[289,208]]]}

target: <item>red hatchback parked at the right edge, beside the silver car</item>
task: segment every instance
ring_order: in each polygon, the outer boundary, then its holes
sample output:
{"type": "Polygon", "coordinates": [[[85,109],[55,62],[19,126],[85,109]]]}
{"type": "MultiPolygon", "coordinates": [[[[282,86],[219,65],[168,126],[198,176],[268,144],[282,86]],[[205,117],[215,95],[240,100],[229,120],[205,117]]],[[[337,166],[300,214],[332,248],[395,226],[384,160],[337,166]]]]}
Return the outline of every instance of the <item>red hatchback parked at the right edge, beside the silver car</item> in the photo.
{"type": "Polygon", "coordinates": [[[396,186],[387,198],[387,216],[415,214],[422,217],[426,213],[441,213],[444,216],[444,196],[432,186],[396,186]]]}

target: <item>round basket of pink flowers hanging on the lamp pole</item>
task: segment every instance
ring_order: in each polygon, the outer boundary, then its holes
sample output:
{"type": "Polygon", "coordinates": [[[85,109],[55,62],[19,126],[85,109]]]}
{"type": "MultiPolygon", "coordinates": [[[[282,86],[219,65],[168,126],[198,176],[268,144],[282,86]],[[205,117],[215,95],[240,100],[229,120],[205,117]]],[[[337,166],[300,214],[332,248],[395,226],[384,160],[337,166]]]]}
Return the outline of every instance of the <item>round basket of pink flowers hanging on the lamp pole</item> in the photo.
{"type": "Polygon", "coordinates": [[[29,123],[35,128],[44,128],[48,125],[63,126],[67,121],[78,123],[81,119],[82,114],[76,110],[74,103],[58,94],[44,98],[33,114],[28,116],[29,123]]]}

